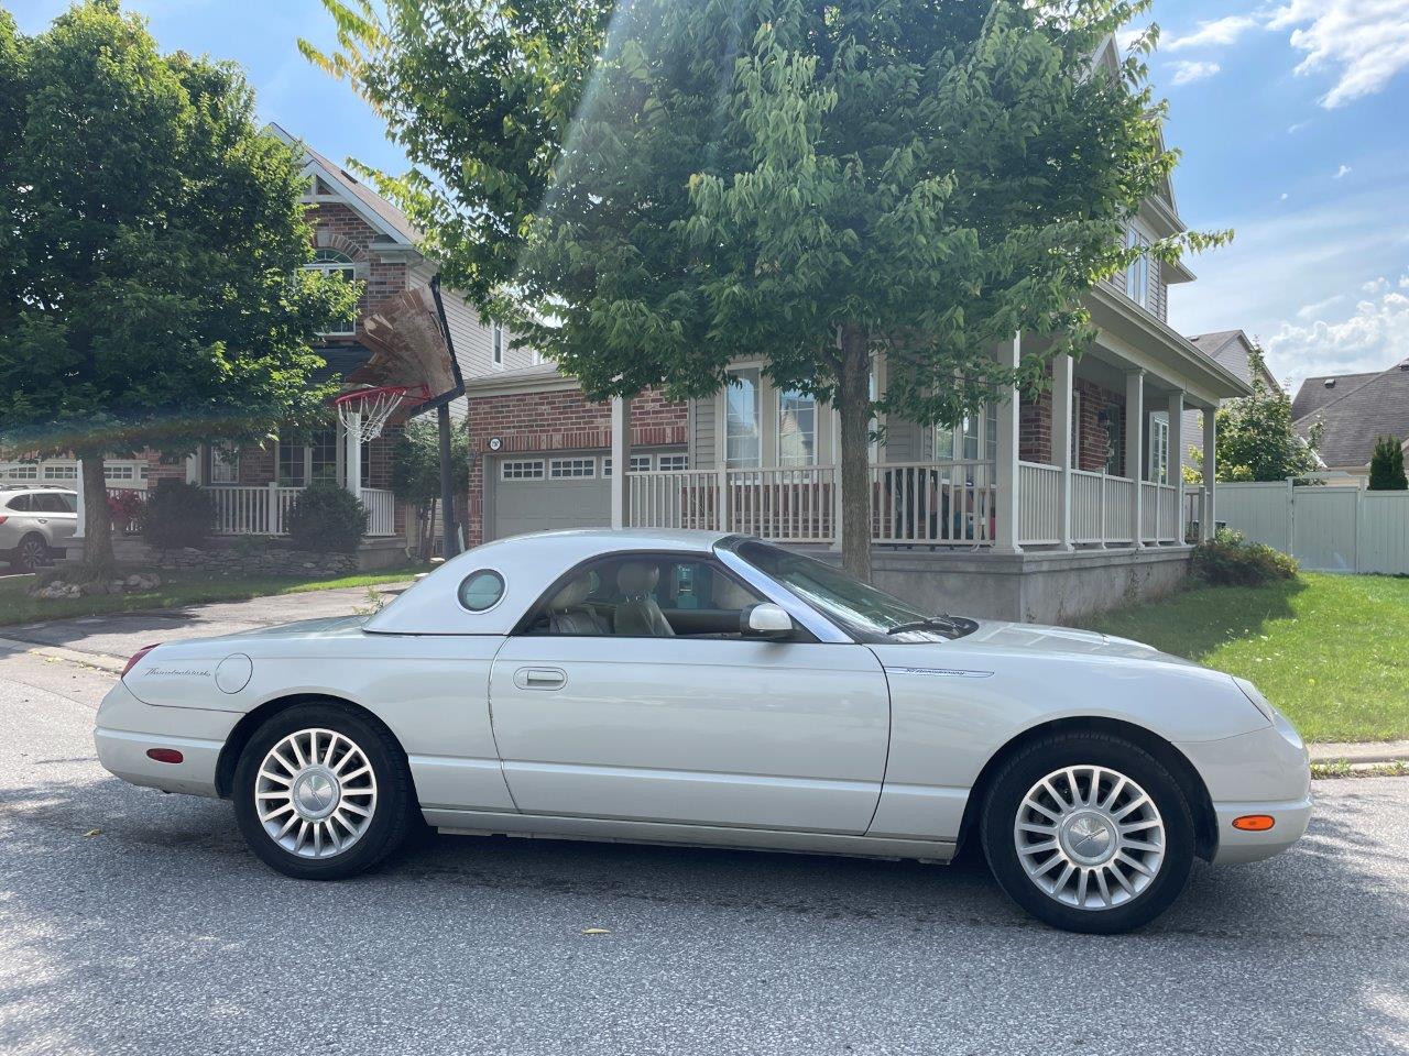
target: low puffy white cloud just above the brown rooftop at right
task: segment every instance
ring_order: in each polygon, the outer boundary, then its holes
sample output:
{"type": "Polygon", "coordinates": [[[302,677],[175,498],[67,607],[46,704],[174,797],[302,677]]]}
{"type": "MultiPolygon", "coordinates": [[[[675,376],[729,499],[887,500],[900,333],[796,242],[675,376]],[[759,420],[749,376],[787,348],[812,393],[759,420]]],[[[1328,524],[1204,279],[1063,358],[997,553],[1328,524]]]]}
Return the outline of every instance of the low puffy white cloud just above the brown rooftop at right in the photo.
{"type": "Polygon", "coordinates": [[[1384,370],[1405,358],[1409,348],[1409,272],[1398,280],[1381,277],[1365,283],[1370,296],[1348,317],[1327,320],[1326,307],[1347,300],[1344,294],[1298,313],[1301,322],[1284,322],[1267,339],[1267,353],[1278,376],[1295,382],[1309,375],[1384,370]]]}

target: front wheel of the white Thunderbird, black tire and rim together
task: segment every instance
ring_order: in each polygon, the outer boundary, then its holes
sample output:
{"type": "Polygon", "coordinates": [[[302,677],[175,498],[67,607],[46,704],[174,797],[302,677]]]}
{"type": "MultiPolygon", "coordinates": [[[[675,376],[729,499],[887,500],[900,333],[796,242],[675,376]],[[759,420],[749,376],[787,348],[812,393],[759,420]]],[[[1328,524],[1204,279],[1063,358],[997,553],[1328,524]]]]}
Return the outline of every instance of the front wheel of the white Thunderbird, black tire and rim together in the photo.
{"type": "Polygon", "coordinates": [[[1193,865],[1184,788],[1148,752],[1106,734],[1060,734],[1019,750],[989,784],[979,825],[1003,891],[1064,931],[1148,924],[1193,865]]]}

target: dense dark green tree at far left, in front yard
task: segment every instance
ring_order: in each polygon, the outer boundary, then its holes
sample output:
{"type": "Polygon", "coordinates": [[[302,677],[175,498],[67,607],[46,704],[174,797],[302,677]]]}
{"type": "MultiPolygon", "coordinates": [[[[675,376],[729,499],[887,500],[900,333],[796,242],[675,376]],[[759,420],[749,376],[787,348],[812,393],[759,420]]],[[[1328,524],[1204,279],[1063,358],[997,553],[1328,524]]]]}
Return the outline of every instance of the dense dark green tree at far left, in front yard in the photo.
{"type": "Polygon", "coordinates": [[[0,449],[83,459],[85,565],[113,563],[103,458],[311,424],[299,158],[227,63],[162,56],[117,0],[20,37],[0,11],[0,449]]]}

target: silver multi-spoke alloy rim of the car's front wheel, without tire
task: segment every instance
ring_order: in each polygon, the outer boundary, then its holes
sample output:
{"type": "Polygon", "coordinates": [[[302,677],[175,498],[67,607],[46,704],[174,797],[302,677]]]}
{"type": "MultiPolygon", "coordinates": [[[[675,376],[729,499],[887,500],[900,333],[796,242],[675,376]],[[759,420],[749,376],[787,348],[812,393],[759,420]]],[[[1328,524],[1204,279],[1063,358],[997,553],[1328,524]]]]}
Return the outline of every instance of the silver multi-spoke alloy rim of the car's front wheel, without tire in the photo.
{"type": "Polygon", "coordinates": [[[1154,800],[1105,766],[1067,766],[1038,780],[1017,808],[1013,842],[1040,891],[1093,911],[1140,897],[1167,849],[1154,800]]]}

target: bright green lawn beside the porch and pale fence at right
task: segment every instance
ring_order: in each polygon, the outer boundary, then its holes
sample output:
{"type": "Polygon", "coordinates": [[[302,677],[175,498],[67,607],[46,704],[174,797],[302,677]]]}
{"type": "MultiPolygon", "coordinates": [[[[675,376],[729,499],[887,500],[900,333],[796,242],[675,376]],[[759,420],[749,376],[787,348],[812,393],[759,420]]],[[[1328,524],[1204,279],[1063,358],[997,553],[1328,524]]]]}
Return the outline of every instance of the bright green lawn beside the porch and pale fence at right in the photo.
{"type": "Polygon", "coordinates": [[[1089,625],[1257,683],[1308,741],[1409,739],[1409,579],[1199,587],[1089,625]]]}

